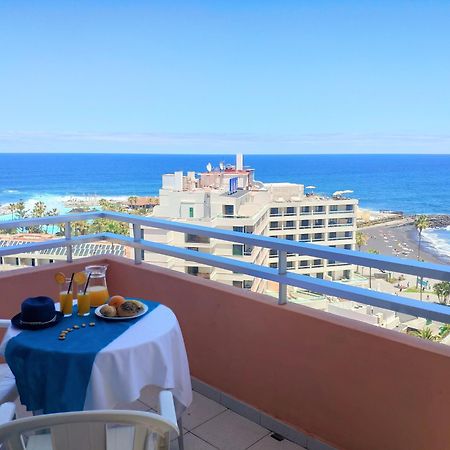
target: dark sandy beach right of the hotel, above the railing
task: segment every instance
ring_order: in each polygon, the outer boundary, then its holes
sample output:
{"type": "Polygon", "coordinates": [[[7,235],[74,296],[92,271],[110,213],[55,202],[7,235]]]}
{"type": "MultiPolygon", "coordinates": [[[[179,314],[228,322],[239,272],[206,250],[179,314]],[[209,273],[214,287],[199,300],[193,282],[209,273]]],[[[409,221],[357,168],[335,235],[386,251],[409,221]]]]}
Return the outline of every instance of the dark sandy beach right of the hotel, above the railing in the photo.
{"type": "MultiPolygon", "coordinates": [[[[377,250],[381,255],[417,260],[417,231],[411,221],[403,220],[372,227],[360,228],[369,237],[361,251],[377,250]]],[[[421,259],[435,264],[448,264],[422,245],[421,259]]]]}

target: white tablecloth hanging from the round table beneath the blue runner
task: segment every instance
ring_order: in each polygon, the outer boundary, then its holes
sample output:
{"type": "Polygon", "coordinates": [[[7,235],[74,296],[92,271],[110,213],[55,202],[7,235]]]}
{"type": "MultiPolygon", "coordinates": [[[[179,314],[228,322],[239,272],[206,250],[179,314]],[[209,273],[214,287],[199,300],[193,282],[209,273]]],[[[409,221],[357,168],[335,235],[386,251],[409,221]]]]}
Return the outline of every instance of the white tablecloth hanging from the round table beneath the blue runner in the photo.
{"type": "MultiPolygon", "coordinates": [[[[10,327],[0,345],[21,330],[10,327]]],[[[187,408],[192,402],[189,365],[175,314],[159,305],[96,356],[86,392],[85,410],[113,409],[140,397],[147,386],[170,389],[187,408]]]]}

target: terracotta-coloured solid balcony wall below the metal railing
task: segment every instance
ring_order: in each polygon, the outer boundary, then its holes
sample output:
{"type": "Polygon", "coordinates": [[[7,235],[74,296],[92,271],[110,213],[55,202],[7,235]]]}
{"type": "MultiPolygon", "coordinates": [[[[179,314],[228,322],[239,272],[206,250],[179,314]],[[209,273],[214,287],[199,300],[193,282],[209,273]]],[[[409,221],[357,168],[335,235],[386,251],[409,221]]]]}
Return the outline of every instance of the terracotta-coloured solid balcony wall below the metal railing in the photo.
{"type": "Polygon", "coordinates": [[[120,257],[1,273],[0,316],[94,262],[111,293],[174,310],[191,374],[212,387],[339,449],[449,448],[444,345],[120,257]]]}

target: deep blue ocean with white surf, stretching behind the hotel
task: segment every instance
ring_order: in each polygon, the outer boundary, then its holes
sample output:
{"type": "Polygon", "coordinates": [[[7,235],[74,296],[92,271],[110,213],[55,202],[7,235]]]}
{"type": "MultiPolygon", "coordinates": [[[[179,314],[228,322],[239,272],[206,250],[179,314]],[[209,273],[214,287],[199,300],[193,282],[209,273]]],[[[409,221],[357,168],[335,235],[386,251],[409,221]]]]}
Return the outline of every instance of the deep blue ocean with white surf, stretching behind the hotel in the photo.
{"type": "MultiPolygon", "coordinates": [[[[0,154],[0,205],[37,200],[64,211],[70,197],[157,195],[161,175],[204,171],[233,155],[0,154]]],[[[360,206],[407,214],[450,214],[450,155],[246,155],[263,182],[352,190],[360,206]]],[[[450,255],[450,227],[427,230],[430,246],[450,255]]]]}

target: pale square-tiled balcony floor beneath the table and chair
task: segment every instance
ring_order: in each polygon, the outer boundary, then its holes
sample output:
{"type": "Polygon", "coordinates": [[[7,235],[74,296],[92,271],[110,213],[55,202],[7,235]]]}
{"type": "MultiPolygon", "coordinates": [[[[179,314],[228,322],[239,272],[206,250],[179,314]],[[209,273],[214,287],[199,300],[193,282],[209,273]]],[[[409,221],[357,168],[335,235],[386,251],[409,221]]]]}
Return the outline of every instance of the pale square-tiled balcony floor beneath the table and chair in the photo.
{"type": "MultiPolygon", "coordinates": [[[[304,450],[286,439],[277,441],[271,432],[209,398],[194,392],[192,405],[183,414],[185,450],[304,450]]],[[[148,411],[154,407],[154,398],[143,396],[127,406],[148,411]]],[[[18,417],[28,415],[19,406],[18,417]]],[[[170,450],[178,450],[177,439],[170,450]]]]}

